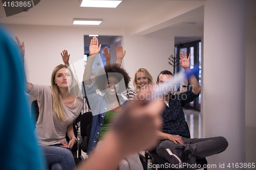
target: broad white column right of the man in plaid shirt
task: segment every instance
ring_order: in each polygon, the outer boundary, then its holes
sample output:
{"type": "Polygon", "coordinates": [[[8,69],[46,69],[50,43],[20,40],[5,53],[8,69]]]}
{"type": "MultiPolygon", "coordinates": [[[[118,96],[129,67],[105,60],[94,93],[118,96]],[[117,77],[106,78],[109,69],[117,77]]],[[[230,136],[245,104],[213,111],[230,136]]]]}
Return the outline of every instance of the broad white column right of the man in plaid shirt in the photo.
{"type": "Polygon", "coordinates": [[[220,163],[222,169],[236,169],[245,162],[246,5],[246,0],[204,5],[203,137],[224,136],[229,143],[226,151],[207,158],[217,169],[220,163]]]}

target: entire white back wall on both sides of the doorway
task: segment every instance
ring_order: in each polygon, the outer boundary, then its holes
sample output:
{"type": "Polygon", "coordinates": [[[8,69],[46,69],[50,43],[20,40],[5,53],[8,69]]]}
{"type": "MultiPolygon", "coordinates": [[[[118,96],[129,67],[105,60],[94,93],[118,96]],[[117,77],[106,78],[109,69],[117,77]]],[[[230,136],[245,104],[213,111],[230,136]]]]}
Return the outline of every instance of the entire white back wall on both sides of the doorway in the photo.
{"type": "MultiPolygon", "coordinates": [[[[8,25],[10,31],[25,41],[25,64],[27,79],[31,83],[50,85],[50,77],[55,66],[62,63],[60,53],[68,50],[70,63],[83,58],[83,35],[90,32],[87,27],[57,27],[8,25]]],[[[95,30],[94,30],[95,31],[95,30]]],[[[99,35],[122,36],[122,29],[99,29],[99,35]]],[[[130,35],[125,30],[122,46],[126,50],[123,67],[133,78],[138,68],[151,72],[154,81],[161,70],[170,69],[168,57],[174,54],[174,36],[163,40],[145,36],[130,35]]],[[[115,48],[112,49],[115,52],[115,48]]]]}

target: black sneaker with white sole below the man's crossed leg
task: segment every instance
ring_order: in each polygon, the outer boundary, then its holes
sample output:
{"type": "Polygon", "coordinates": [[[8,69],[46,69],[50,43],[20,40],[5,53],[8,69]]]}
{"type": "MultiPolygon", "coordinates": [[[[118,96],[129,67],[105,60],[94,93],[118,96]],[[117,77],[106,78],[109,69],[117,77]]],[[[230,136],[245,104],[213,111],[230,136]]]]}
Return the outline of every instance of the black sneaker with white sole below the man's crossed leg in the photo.
{"type": "MultiPolygon", "coordinates": [[[[190,150],[184,151],[185,147],[177,147],[173,152],[170,149],[166,149],[166,158],[171,164],[182,165],[182,162],[185,162],[191,158],[190,150]]],[[[179,169],[179,168],[175,168],[179,169]]]]}

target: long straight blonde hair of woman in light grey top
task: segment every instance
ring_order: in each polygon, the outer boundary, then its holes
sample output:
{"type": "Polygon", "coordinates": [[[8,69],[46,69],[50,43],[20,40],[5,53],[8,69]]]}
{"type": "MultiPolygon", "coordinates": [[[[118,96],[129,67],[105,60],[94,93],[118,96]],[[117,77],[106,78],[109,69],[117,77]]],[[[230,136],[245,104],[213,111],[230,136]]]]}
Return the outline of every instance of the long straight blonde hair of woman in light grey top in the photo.
{"type": "MultiPolygon", "coordinates": [[[[63,112],[63,104],[62,104],[62,99],[61,99],[61,95],[59,93],[59,87],[57,86],[57,84],[55,84],[55,76],[56,73],[59,69],[61,68],[68,68],[67,65],[64,64],[59,64],[58,66],[56,66],[52,72],[52,77],[51,77],[51,91],[52,91],[52,106],[53,106],[53,111],[56,113],[57,117],[62,121],[65,122],[66,118],[63,112]]],[[[70,69],[69,69],[70,70],[70,69]]],[[[74,87],[74,83],[76,83],[75,78],[73,76],[72,71],[71,72],[71,76],[72,76],[72,83],[71,83],[71,87],[74,87]]],[[[72,93],[70,91],[70,93],[72,93]]]]}

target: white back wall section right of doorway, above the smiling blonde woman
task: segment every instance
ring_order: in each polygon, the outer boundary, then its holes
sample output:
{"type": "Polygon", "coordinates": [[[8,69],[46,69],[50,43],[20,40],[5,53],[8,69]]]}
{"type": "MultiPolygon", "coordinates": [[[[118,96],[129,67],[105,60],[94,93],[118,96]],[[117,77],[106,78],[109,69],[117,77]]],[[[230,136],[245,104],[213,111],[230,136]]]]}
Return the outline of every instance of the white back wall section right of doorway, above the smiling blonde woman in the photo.
{"type": "Polygon", "coordinates": [[[160,71],[164,69],[173,70],[168,64],[168,58],[171,54],[174,54],[174,37],[165,40],[136,36],[130,34],[130,29],[125,29],[122,45],[126,50],[123,68],[129,72],[132,81],[135,71],[139,68],[147,69],[153,77],[154,83],[160,71]]]}

